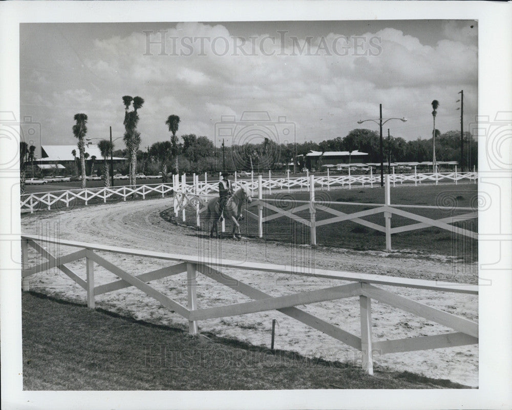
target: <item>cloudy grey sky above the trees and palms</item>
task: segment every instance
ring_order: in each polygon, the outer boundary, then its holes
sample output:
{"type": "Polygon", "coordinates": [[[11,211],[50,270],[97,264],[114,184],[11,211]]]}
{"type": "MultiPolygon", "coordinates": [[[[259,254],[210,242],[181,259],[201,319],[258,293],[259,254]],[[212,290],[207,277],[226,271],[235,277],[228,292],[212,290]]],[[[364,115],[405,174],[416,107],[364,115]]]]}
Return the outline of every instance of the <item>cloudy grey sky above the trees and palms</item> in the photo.
{"type": "Polygon", "coordinates": [[[88,115],[88,138],[108,138],[110,126],[121,137],[123,95],[145,100],[143,150],[170,137],[171,114],[178,135],[217,146],[222,135],[227,146],[319,142],[378,131],[357,121],[377,119],[379,104],[383,118],[408,119],[387,122],[385,135],[430,138],[434,99],[441,132],[460,130],[461,90],[465,125],[477,115],[477,32],[473,20],[22,24],[20,113],[40,124],[37,147],[76,144],[76,113],[88,115]],[[241,138],[255,115],[267,120],[241,138]]]}

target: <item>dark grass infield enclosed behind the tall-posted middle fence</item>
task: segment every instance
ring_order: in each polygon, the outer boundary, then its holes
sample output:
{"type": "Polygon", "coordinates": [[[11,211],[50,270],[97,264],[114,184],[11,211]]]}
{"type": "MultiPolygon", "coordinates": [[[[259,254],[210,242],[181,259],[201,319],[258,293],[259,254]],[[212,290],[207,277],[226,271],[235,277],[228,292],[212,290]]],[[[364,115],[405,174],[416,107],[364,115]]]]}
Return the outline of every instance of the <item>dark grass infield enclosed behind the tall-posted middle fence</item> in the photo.
{"type": "MultiPolygon", "coordinates": [[[[299,201],[309,200],[307,192],[280,192],[272,195],[265,195],[267,199],[280,199],[280,202],[271,202],[274,206],[284,210],[300,206],[299,201]]],[[[322,202],[359,202],[359,203],[384,203],[384,190],[381,188],[360,188],[351,190],[317,190],[315,192],[316,201],[322,202]]],[[[441,219],[449,216],[461,215],[470,211],[460,211],[457,207],[477,208],[478,191],[477,185],[464,183],[459,185],[426,185],[397,186],[391,188],[391,203],[401,205],[424,205],[433,207],[449,207],[449,210],[443,209],[407,209],[404,211],[425,216],[432,219],[441,219]]],[[[367,209],[372,206],[352,206],[344,204],[328,204],[325,206],[342,211],[344,213],[354,213],[367,209]]],[[[251,212],[257,214],[257,209],[252,208],[251,212]]],[[[272,215],[274,212],[266,208],[263,209],[263,216],[272,215]]],[[[309,220],[309,210],[296,213],[304,219],[309,220]]],[[[333,215],[327,212],[319,211],[316,213],[316,220],[330,218],[333,215]]],[[[367,221],[385,225],[383,213],[363,217],[367,221]]],[[[181,220],[181,219],[180,219],[181,220]]],[[[187,223],[190,226],[195,224],[195,211],[187,210],[187,223]]],[[[393,215],[391,227],[404,226],[416,223],[415,221],[393,215]]],[[[470,231],[477,231],[477,219],[461,221],[454,223],[455,226],[470,231]]],[[[203,230],[206,230],[206,224],[203,230]]],[[[230,232],[231,224],[228,223],[226,230],[230,232]]],[[[245,218],[241,222],[241,230],[244,236],[257,237],[258,221],[253,218],[245,218]]],[[[310,229],[304,224],[293,221],[287,217],[276,218],[263,224],[263,238],[267,240],[276,240],[294,243],[296,245],[310,243],[310,229]]],[[[398,233],[392,235],[392,249],[401,251],[412,251],[420,254],[438,254],[453,257],[456,260],[464,262],[475,262],[478,258],[478,242],[466,236],[452,234],[449,231],[440,228],[424,228],[410,232],[398,233]]],[[[318,227],[316,230],[317,245],[328,247],[340,247],[354,250],[385,250],[386,237],[384,233],[362,226],[361,224],[344,221],[327,224],[318,227]]]]}

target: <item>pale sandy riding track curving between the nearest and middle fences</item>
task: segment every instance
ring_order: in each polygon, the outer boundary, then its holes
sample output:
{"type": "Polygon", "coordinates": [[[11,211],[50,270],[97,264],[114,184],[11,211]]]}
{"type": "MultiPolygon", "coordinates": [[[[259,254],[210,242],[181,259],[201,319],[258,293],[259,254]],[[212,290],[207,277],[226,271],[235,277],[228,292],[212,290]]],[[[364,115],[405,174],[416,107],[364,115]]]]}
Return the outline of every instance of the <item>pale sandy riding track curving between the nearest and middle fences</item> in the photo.
{"type": "MultiPolygon", "coordinates": [[[[436,255],[418,258],[413,253],[400,252],[358,252],[334,248],[312,250],[305,246],[297,247],[279,242],[246,238],[241,241],[211,240],[206,238],[204,233],[198,234],[190,228],[176,226],[175,223],[162,218],[161,214],[165,215],[171,207],[172,198],[167,198],[118,202],[68,211],[40,212],[33,215],[25,214],[22,216],[22,232],[139,250],[476,283],[476,277],[463,274],[463,272],[474,272],[474,269],[464,269],[460,266],[454,269],[453,261],[436,255]]],[[[49,244],[47,249],[54,255],[65,255],[72,251],[71,248],[53,244],[49,244]]],[[[101,252],[99,254],[132,274],[140,274],[173,264],[150,258],[101,252]]],[[[44,261],[33,250],[29,256],[31,263],[44,261]]],[[[83,260],[70,263],[68,267],[85,278],[83,260]]],[[[272,296],[343,284],[339,281],[285,274],[234,269],[226,269],[225,272],[272,296]]],[[[103,268],[95,268],[97,285],[116,279],[114,274],[103,268]]],[[[30,286],[33,290],[67,300],[83,303],[86,299],[84,290],[56,269],[31,276],[30,286]]],[[[152,286],[186,305],[185,274],[152,282],[152,286]]],[[[382,287],[434,308],[474,321],[478,320],[477,296],[382,287]]],[[[250,300],[200,274],[198,274],[197,295],[199,308],[250,300]]],[[[133,287],[96,297],[96,306],[154,323],[179,326],[183,329],[187,326],[186,320],[163,308],[159,302],[133,287]]],[[[346,331],[360,335],[358,298],[297,307],[338,325],[346,331]]],[[[360,365],[360,353],[352,347],[277,311],[205,320],[199,322],[199,329],[201,332],[211,332],[218,336],[236,338],[270,347],[272,319],[278,321],[275,348],[296,351],[308,357],[349,361],[360,365]]],[[[375,301],[372,302],[372,320],[374,340],[399,339],[453,331],[375,301]]],[[[450,379],[470,386],[478,385],[478,345],[387,355],[375,353],[374,356],[376,365],[383,368],[397,371],[408,370],[429,377],[450,379]]]]}

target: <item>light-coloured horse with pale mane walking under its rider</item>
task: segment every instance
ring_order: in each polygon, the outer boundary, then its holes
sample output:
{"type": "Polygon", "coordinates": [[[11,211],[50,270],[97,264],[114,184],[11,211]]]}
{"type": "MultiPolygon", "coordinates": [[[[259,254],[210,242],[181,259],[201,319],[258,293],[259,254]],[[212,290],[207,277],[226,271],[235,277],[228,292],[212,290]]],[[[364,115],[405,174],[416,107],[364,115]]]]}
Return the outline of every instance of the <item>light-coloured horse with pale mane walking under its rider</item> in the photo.
{"type": "MultiPolygon", "coordinates": [[[[234,194],[227,200],[226,206],[224,207],[223,215],[226,220],[231,220],[233,222],[233,239],[242,237],[242,233],[240,232],[240,217],[242,216],[242,206],[245,202],[251,203],[251,195],[247,187],[242,186],[234,194]],[[235,233],[235,229],[238,230],[235,233]]],[[[219,230],[217,227],[217,223],[221,217],[220,212],[220,202],[219,198],[211,198],[208,201],[206,213],[206,220],[211,221],[211,230],[210,230],[210,238],[214,237],[214,230],[216,237],[219,237],[219,230]]]]}

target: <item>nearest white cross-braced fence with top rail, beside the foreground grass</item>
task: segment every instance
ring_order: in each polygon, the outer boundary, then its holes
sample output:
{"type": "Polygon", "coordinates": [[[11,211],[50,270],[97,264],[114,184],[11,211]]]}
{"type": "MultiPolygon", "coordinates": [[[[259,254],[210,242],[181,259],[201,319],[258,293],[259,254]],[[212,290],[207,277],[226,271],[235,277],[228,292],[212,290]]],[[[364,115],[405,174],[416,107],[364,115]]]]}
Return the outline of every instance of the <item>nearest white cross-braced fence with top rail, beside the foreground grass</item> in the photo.
{"type": "Polygon", "coordinates": [[[362,367],[369,374],[373,374],[373,356],[376,353],[386,354],[410,352],[478,343],[478,323],[434,309],[431,306],[410,300],[376,286],[380,284],[425,289],[435,292],[454,292],[477,295],[477,285],[318,269],[312,271],[310,268],[305,269],[270,263],[233,261],[225,259],[205,260],[200,256],[140,251],[94,243],[67,241],[59,238],[39,237],[35,235],[22,235],[21,240],[23,261],[22,286],[25,291],[29,290],[30,276],[52,268],[59,269],[86,291],[87,305],[91,309],[95,308],[95,296],[135,286],[146,295],[159,301],[169,310],[172,310],[187,319],[189,333],[193,335],[198,333],[198,321],[200,320],[277,310],[295,320],[313,327],[313,329],[321,331],[361,351],[362,367]],[[59,247],[70,247],[72,249],[76,249],[76,251],[66,255],[53,255],[45,249],[45,244],[48,243],[56,243],[59,247]],[[45,257],[47,261],[29,267],[29,247],[33,248],[39,255],[45,257]],[[114,263],[99,256],[95,251],[168,260],[175,262],[175,264],[152,272],[141,273],[135,271],[130,273],[120,269],[114,263]],[[84,259],[84,263],[86,265],[86,278],[80,277],[67,266],[70,262],[82,259],[84,259]],[[120,279],[113,280],[106,284],[96,285],[94,281],[95,264],[100,265],[120,279]],[[253,286],[227,275],[222,271],[225,269],[328,278],[332,280],[349,281],[350,283],[340,284],[320,290],[272,297],[253,286]],[[187,275],[187,306],[169,298],[148,284],[148,282],[153,280],[185,272],[187,275]],[[196,276],[198,273],[254,300],[246,303],[235,303],[202,309],[199,306],[200,301],[196,294],[196,276]],[[340,329],[340,327],[334,326],[321,318],[315,317],[295,307],[303,304],[357,296],[359,299],[360,309],[360,336],[340,329]],[[394,306],[394,308],[412,313],[427,320],[440,323],[454,329],[455,332],[433,336],[375,341],[373,340],[372,330],[372,299],[394,306]]]}

